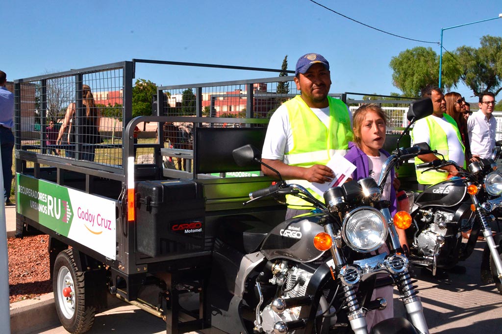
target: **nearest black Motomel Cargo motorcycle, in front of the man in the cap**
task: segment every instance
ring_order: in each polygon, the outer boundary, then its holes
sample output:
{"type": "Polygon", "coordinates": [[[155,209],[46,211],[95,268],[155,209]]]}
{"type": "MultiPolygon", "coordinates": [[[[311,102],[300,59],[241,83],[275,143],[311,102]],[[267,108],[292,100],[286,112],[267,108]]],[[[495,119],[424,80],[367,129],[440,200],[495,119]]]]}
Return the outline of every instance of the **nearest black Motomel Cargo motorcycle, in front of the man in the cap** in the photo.
{"type": "MultiPolygon", "coordinates": [[[[430,99],[418,101],[408,118],[413,122],[431,111],[430,99]]],[[[401,149],[396,161],[413,158],[420,150],[401,149]]],[[[234,159],[239,165],[264,164],[250,145],[234,150],[234,159]]],[[[409,214],[401,212],[393,220],[390,202],[382,200],[371,178],[329,189],[322,203],[276,173],[277,184],[249,194],[246,203],[271,196],[283,201],[293,195],[316,210],[272,229],[257,221],[222,224],[212,271],[220,275],[211,277],[209,297],[212,312],[221,320],[213,317],[213,324],[232,333],[366,334],[366,311],[383,309],[388,302],[370,300],[373,289],[396,284],[409,320],[386,319],[371,333],[428,333],[394,222],[409,226],[409,214]],[[381,251],[384,244],[388,253],[381,251]],[[387,276],[377,279],[377,274],[387,276]]]]}

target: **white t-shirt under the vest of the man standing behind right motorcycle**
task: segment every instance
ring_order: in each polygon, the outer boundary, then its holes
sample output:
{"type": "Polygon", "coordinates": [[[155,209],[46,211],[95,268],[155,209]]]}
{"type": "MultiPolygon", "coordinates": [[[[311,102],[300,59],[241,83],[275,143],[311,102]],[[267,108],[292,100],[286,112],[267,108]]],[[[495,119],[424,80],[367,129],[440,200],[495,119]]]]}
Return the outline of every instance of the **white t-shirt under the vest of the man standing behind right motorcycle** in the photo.
{"type": "MultiPolygon", "coordinates": [[[[429,116],[436,121],[443,131],[446,133],[448,140],[448,159],[455,161],[460,167],[464,165],[465,155],[462,151],[462,144],[458,140],[457,132],[453,125],[444,117],[429,116]]],[[[429,133],[429,125],[427,119],[419,119],[413,127],[413,143],[426,142],[431,144],[431,134],[429,133]]],[[[431,147],[434,149],[434,147],[431,147]]]]}

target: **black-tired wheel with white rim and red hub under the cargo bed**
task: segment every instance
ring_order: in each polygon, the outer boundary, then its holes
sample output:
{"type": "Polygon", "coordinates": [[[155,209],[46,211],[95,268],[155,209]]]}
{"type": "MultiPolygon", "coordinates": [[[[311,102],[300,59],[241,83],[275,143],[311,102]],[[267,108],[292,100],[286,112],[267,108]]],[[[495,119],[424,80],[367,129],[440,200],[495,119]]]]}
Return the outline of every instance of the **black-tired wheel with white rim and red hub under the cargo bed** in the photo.
{"type": "Polygon", "coordinates": [[[63,327],[73,334],[89,331],[94,324],[96,307],[85,305],[84,273],[77,269],[71,249],[65,249],[56,257],[52,287],[56,311],[63,327]],[[65,288],[70,288],[66,290],[66,294],[70,294],[67,297],[63,292],[65,288]]]}

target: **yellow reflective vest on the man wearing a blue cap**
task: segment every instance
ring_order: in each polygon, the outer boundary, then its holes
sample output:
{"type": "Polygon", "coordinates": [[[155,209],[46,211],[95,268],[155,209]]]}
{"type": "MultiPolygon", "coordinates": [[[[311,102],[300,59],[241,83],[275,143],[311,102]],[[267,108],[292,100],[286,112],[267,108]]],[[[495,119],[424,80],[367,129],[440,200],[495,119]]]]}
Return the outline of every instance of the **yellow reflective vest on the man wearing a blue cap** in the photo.
{"type": "MultiPolygon", "coordinates": [[[[326,164],[335,152],[345,155],[348,142],[352,140],[349,111],[345,103],[328,96],[329,128],[314,114],[300,97],[284,103],[288,109],[289,123],[293,135],[293,147],[284,155],[284,163],[309,168],[314,164],[326,164]]],[[[306,180],[290,180],[307,188],[312,195],[323,201],[322,196],[310,189],[306,180]]],[[[307,209],[309,203],[294,196],[287,197],[288,206],[292,209],[307,209]]]]}

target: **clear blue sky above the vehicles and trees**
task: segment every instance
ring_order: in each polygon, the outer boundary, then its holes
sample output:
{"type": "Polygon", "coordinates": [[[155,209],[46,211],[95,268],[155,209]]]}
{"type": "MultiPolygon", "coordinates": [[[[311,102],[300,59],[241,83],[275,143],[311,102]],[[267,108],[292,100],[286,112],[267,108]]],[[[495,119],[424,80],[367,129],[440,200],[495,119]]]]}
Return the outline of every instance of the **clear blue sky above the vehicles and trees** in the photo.
{"type": "MultiPolygon", "coordinates": [[[[412,39],[439,42],[441,28],[497,17],[498,0],[316,0],[367,25],[412,39]]],[[[438,44],[409,41],[369,29],[309,0],[223,1],[3,1],[0,69],[8,80],[123,60],[288,69],[317,52],[330,62],[332,93],[399,92],[389,63],[401,51],[438,44]]],[[[443,46],[479,47],[483,35],[501,36],[502,19],[444,31],[443,46]]],[[[277,76],[200,67],[139,64],[137,78],[158,85],[277,76]]],[[[472,93],[455,91],[467,100],[472,93]]]]}

